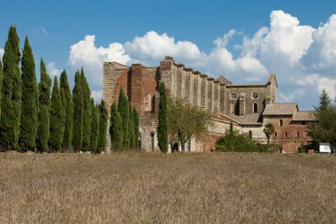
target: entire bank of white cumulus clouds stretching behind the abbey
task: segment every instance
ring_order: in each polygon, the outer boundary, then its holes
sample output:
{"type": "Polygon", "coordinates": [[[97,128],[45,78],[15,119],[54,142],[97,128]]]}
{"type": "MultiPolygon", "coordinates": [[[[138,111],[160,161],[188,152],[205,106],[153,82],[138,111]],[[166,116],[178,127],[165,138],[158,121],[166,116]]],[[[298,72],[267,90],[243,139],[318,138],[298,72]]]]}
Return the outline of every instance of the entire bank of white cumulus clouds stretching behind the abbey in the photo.
{"type": "MultiPolygon", "coordinates": [[[[157,66],[168,55],[214,77],[224,74],[236,83],[265,81],[270,72],[275,72],[279,89],[285,87],[279,92],[283,102],[299,101],[322,89],[335,96],[336,15],[314,28],[302,25],[289,13],[273,11],[269,26],[259,28],[251,37],[243,36],[241,44],[234,45],[238,54],[228,48],[236,35],[242,34],[232,29],[216,38],[209,52],[200,50],[194,42],[177,41],[155,31],[125,43],[112,42],[106,48],[95,46],[95,35],[87,35],[71,46],[69,63],[75,68],[84,66],[90,81],[101,85],[103,61],[157,66]]],[[[101,97],[100,92],[95,91],[93,96],[101,97]]]]}

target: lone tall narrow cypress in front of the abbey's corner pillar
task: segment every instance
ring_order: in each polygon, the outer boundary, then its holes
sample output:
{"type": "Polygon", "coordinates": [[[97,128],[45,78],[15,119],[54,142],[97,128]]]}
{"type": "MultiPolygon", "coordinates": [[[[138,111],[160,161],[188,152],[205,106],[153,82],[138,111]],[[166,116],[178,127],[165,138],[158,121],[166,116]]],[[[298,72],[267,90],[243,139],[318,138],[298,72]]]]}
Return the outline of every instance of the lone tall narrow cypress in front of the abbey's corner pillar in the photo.
{"type": "Polygon", "coordinates": [[[160,82],[160,103],[157,124],[157,143],[161,151],[168,151],[168,114],[164,82],[160,82]]]}

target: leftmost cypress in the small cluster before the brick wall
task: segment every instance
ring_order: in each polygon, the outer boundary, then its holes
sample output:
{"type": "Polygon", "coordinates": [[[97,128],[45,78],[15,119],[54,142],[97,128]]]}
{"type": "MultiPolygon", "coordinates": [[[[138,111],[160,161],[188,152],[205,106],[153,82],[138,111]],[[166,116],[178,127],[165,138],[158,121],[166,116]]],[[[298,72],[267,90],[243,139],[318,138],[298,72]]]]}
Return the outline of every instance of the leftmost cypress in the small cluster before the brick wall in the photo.
{"type": "Polygon", "coordinates": [[[116,103],[111,106],[111,145],[113,150],[121,150],[123,145],[123,127],[120,113],[116,103]]]}

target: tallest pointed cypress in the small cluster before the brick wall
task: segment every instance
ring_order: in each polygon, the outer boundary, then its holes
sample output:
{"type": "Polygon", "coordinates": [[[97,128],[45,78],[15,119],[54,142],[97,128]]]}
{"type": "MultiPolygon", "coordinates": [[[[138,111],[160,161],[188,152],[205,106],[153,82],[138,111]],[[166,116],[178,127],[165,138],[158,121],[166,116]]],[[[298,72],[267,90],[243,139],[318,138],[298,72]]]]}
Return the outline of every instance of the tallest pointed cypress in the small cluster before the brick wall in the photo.
{"type": "Polygon", "coordinates": [[[119,91],[118,112],[120,113],[123,125],[123,147],[127,149],[129,146],[129,135],[128,135],[129,109],[128,109],[128,101],[122,88],[119,91]]]}

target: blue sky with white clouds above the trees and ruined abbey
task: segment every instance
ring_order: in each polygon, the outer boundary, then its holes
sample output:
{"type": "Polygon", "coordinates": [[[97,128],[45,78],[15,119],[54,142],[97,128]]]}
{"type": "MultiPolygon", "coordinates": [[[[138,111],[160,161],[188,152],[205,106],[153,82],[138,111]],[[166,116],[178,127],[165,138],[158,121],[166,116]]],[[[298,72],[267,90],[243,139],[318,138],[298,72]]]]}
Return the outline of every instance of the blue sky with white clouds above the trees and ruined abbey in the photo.
{"type": "Polygon", "coordinates": [[[50,75],[84,66],[101,96],[102,65],[157,66],[164,55],[234,83],[276,73],[279,102],[300,109],[336,92],[335,1],[3,1],[0,56],[14,24],[50,75]],[[333,62],[333,63],[332,63],[333,62]]]}

